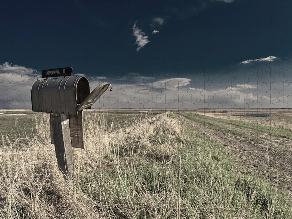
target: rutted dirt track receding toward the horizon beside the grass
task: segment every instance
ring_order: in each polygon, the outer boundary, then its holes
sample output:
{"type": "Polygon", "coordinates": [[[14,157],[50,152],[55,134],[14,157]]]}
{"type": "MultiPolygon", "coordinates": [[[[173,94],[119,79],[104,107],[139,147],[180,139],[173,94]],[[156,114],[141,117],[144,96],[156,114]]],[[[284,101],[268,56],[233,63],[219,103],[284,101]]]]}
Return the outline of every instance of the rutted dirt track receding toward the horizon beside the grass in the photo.
{"type": "Polygon", "coordinates": [[[244,168],[243,172],[265,176],[270,182],[292,194],[292,141],[286,138],[275,138],[265,133],[248,128],[240,128],[241,131],[251,133],[263,138],[262,142],[251,142],[241,136],[233,136],[212,129],[204,124],[192,121],[180,115],[188,124],[208,134],[211,138],[219,140],[226,146],[227,152],[244,168]],[[277,145],[282,146],[277,150],[277,145]]]}

